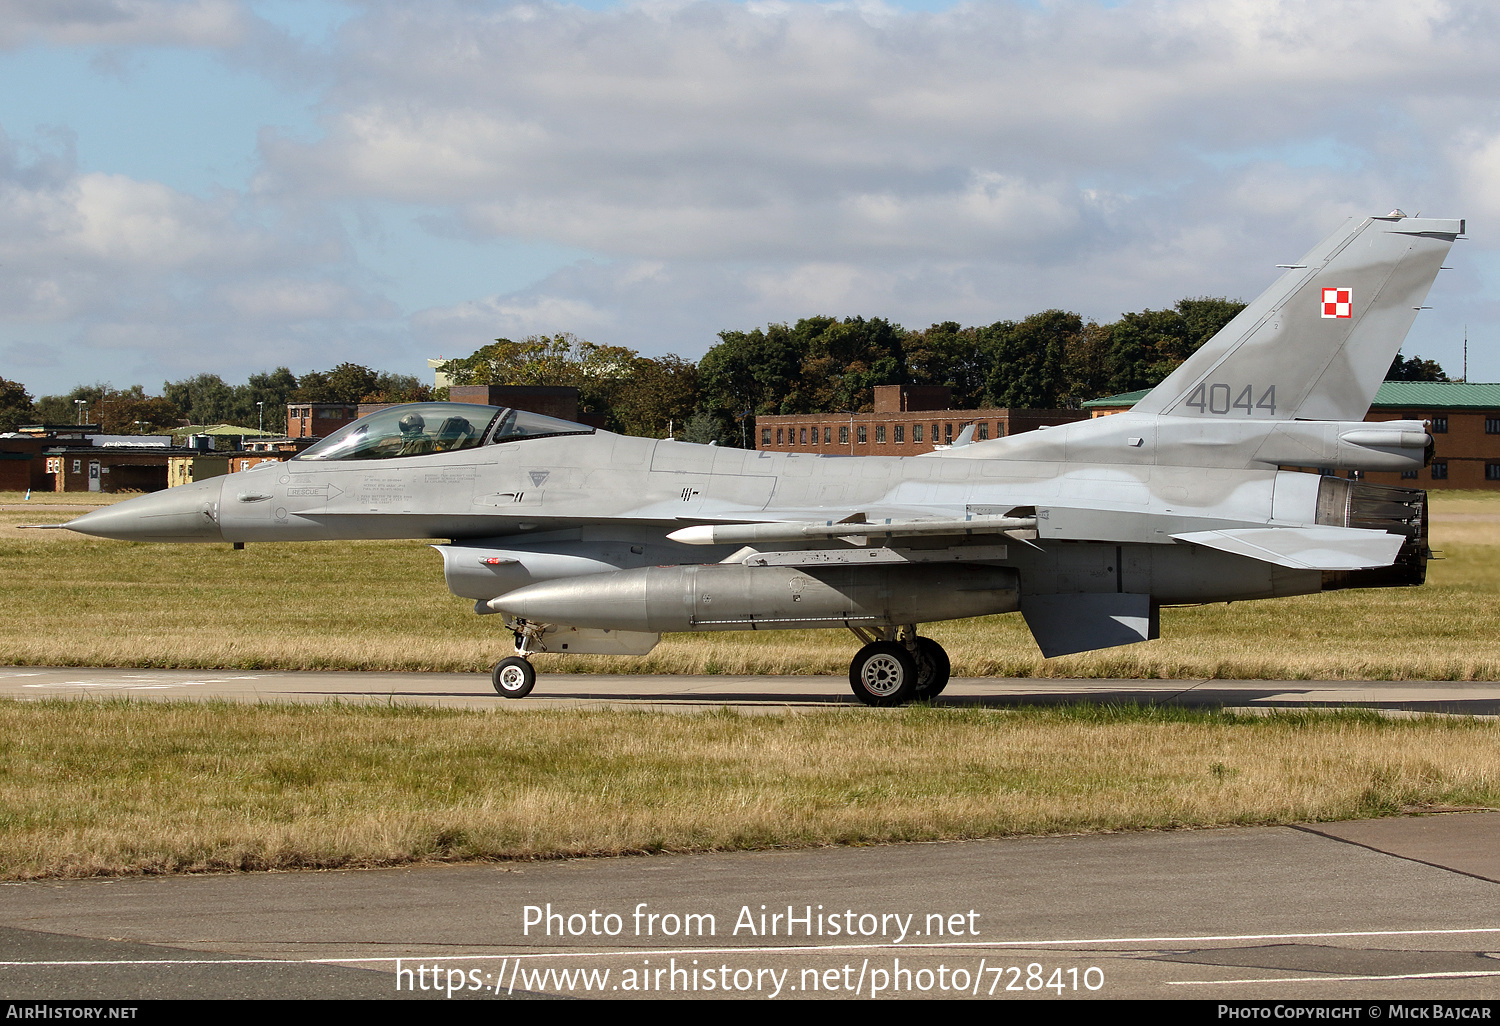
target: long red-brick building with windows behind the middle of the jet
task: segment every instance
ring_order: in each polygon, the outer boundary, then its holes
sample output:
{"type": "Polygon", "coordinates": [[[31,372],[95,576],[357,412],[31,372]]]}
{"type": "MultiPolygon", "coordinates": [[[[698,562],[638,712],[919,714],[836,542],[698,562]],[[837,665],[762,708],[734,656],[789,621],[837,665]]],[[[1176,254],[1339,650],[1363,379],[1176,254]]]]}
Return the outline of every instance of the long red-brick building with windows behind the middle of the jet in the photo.
{"type": "Polygon", "coordinates": [[[1084,420],[1080,410],[950,410],[946,386],[876,386],[874,412],[756,417],[756,448],[849,456],[916,456],[948,446],[968,426],[974,440],[1084,420]]]}

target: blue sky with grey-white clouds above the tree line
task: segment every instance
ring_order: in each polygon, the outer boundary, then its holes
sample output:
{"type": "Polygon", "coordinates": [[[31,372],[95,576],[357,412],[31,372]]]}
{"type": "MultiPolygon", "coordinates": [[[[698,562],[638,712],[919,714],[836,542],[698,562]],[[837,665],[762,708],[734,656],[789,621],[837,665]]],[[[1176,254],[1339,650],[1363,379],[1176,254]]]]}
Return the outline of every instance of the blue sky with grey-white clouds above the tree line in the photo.
{"type": "Polygon", "coordinates": [[[1480,3],[0,0],[0,375],[1251,298],[1467,216],[1407,352],[1500,380],[1480,3]],[[1329,26],[1338,26],[1336,38],[1329,26]]]}

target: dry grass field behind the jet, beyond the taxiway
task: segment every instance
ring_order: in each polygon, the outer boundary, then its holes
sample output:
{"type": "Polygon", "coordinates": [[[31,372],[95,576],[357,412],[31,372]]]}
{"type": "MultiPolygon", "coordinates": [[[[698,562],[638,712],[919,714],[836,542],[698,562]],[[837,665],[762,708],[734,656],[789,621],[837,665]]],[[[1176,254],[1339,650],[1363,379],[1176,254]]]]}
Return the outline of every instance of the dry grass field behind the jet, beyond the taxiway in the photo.
{"type": "MultiPolygon", "coordinates": [[[[1500,680],[1500,494],[1434,494],[1432,506],[1444,558],[1425,588],[1168,609],[1161,640],[1054,660],[1017,615],[926,633],[969,676],[1500,680]]],[[[0,512],[0,663],[480,670],[508,650],[498,618],[450,596],[422,543],[234,552],[15,530],[38,519],[56,518],[0,512]]],[[[543,657],[538,668],[843,674],[852,644],[842,632],[672,634],[645,658],[543,657]]]]}

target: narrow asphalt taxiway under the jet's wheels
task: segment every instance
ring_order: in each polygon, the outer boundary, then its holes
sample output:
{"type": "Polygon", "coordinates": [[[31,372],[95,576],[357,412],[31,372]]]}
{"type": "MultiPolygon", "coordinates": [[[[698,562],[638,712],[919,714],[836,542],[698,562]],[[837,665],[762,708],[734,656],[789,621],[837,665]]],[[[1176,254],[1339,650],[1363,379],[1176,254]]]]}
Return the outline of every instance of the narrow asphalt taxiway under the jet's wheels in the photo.
{"type": "MultiPolygon", "coordinates": [[[[495,694],[486,674],[148,670],[0,668],[0,696],[129,696],[146,700],[398,702],[447,708],[652,708],[744,712],[862,708],[842,676],[693,676],[543,674],[525,699],[495,694]]],[[[1200,708],[1377,708],[1394,714],[1500,716],[1500,684],[1488,681],[1140,681],[956,678],[938,705],[1152,702],[1200,708]]]]}

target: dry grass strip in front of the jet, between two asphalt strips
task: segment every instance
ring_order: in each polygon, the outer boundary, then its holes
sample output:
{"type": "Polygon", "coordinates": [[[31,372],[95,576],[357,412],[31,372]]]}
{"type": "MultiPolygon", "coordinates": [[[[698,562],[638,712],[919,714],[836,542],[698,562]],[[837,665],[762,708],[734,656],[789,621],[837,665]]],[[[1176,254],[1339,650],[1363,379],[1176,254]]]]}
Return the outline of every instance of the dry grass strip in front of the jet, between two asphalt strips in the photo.
{"type": "Polygon", "coordinates": [[[1500,726],[0,702],[0,878],[1276,824],[1500,804],[1500,726]]]}

